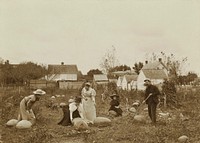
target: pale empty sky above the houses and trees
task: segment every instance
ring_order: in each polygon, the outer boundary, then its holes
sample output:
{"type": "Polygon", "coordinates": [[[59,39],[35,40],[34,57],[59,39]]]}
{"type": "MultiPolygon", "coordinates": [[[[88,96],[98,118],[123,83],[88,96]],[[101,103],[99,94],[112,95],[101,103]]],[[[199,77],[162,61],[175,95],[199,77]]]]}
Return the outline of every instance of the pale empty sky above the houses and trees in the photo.
{"type": "Polygon", "coordinates": [[[200,74],[200,0],[0,0],[0,57],[10,63],[100,69],[108,49],[120,64],[152,52],[188,57],[200,74]]]}

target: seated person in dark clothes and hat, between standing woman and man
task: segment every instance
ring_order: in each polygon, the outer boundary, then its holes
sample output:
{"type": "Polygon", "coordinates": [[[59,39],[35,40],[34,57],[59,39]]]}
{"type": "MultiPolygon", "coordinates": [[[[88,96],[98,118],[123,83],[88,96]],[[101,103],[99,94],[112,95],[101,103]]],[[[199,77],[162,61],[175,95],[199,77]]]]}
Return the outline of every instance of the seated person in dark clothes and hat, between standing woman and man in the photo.
{"type": "Polygon", "coordinates": [[[113,94],[110,96],[110,98],[112,99],[111,102],[110,102],[110,109],[108,110],[109,111],[109,114],[113,114],[114,113],[114,116],[115,117],[118,117],[118,116],[122,116],[122,109],[119,107],[119,95],[117,94],[113,94]]]}

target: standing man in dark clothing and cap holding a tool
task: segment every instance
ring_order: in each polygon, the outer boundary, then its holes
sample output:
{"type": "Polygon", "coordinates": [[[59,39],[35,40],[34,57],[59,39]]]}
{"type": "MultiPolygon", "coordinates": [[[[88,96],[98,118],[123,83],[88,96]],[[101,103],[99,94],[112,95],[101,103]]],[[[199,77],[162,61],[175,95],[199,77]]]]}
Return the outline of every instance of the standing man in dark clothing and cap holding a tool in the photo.
{"type": "Polygon", "coordinates": [[[160,95],[159,89],[151,84],[150,79],[144,80],[145,90],[145,101],[148,104],[149,117],[153,124],[156,124],[156,107],[159,103],[158,96],[160,95]]]}

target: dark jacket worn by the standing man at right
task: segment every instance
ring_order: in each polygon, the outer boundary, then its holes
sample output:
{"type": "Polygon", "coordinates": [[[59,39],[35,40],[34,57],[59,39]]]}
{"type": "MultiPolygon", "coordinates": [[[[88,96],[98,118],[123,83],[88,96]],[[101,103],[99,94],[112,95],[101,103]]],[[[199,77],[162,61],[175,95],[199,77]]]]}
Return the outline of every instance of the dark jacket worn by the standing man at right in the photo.
{"type": "Polygon", "coordinates": [[[146,103],[147,104],[151,104],[151,103],[158,104],[158,102],[159,102],[158,96],[160,95],[159,89],[155,85],[149,85],[145,91],[145,99],[149,96],[150,93],[152,95],[146,100],[146,103]]]}

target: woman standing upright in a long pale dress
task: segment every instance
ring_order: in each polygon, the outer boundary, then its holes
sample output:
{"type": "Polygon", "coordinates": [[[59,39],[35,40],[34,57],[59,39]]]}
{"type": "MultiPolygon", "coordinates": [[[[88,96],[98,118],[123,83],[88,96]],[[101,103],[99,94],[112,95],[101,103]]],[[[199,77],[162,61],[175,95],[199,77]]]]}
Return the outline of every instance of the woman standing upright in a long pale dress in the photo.
{"type": "Polygon", "coordinates": [[[85,87],[81,91],[81,95],[85,119],[93,123],[96,118],[96,91],[91,87],[89,82],[86,82],[85,87]]]}

